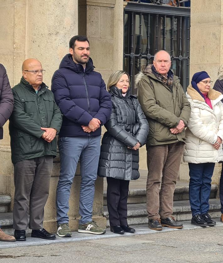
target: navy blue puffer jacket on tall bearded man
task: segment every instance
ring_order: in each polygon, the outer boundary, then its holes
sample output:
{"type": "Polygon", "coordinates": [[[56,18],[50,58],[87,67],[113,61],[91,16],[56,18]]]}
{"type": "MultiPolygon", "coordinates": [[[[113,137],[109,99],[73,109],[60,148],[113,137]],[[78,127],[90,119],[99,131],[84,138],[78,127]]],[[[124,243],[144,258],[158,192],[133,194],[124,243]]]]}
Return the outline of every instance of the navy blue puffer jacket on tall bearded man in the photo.
{"type": "MultiPolygon", "coordinates": [[[[89,59],[85,71],[81,64],[73,62],[67,54],[53,75],[51,90],[63,114],[60,136],[89,136],[82,125],[97,118],[104,125],[111,114],[111,96],[107,92],[101,74],[95,72],[89,59]]],[[[101,127],[91,136],[101,134],[101,127]]]]}

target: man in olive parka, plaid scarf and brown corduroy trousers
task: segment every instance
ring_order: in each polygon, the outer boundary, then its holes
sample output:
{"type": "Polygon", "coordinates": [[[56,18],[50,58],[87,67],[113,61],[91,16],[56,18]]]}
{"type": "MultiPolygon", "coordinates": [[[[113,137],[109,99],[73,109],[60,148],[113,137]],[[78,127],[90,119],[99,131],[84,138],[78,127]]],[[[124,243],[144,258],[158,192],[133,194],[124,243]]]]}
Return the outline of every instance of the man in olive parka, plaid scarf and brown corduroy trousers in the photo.
{"type": "Polygon", "coordinates": [[[184,151],[185,130],[190,116],[179,78],[170,70],[170,55],[158,51],[153,65],[136,77],[139,102],[150,125],[147,137],[146,199],[148,226],[183,228],[173,217],[173,194],[184,151]]]}

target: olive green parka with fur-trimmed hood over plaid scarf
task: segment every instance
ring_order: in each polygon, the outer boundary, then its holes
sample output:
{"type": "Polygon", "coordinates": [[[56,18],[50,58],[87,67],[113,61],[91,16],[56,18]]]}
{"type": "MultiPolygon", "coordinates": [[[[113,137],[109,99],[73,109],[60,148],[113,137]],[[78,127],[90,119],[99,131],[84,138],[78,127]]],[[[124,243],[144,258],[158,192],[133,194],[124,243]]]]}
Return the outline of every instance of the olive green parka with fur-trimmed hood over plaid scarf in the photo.
{"type": "Polygon", "coordinates": [[[151,73],[140,72],[136,78],[139,102],[150,126],[146,146],[185,141],[185,130],[173,134],[170,128],[190,117],[190,103],[177,76],[173,77],[172,90],[151,73]]]}

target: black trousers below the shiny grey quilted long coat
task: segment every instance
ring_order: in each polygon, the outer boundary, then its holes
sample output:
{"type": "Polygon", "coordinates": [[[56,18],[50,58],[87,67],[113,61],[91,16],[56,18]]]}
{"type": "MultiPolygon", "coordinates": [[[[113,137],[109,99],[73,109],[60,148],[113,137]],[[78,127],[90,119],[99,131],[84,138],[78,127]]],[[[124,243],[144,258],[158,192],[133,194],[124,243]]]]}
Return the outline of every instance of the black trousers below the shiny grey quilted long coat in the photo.
{"type": "Polygon", "coordinates": [[[107,177],[107,206],[110,226],[127,225],[129,180],[107,177]]]}

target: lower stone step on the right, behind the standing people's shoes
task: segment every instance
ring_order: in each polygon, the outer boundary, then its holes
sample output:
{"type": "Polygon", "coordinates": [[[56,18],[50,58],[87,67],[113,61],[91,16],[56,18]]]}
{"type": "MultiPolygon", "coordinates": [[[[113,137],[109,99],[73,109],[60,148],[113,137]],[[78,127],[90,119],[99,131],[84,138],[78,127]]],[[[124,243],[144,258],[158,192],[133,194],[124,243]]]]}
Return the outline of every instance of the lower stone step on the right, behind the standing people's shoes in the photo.
{"type": "MultiPolygon", "coordinates": [[[[220,200],[210,199],[210,210],[209,214],[211,217],[220,217],[220,200]]],[[[148,223],[146,203],[141,204],[128,204],[128,224],[146,224],[148,223]]],[[[173,216],[178,221],[191,220],[191,210],[188,200],[174,201],[173,202],[173,216]]],[[[109,227],[109,213],[107,206],[104,206],[104,217],[107,218],[107,227],[109,227]]]]}

